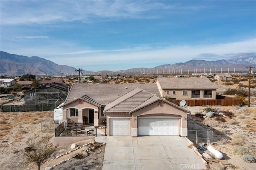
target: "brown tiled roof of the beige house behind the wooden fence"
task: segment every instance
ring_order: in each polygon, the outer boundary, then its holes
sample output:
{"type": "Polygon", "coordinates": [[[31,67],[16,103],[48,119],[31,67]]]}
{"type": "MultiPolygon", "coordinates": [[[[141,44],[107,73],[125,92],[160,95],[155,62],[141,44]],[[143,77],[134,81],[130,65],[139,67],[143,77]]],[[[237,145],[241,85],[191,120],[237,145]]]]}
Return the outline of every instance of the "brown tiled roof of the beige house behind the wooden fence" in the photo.
{"type": "Polygon", "coordinates": [[[218,89],[206,77],[158,77],[162,89],[218,89]]]}

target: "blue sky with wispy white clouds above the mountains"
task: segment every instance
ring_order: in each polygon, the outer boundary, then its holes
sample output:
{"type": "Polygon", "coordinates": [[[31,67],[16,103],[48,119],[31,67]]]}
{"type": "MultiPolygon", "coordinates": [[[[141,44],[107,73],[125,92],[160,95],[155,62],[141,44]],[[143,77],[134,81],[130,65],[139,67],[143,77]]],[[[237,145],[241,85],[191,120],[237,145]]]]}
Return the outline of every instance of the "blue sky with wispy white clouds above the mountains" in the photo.
{"type": "Polygon", "coordinates": [[[256,52],[256,1],[0,1],[1,51],[90,71],[256,52]],[[229,55],[227,55],[229,54],[229,55]]]}

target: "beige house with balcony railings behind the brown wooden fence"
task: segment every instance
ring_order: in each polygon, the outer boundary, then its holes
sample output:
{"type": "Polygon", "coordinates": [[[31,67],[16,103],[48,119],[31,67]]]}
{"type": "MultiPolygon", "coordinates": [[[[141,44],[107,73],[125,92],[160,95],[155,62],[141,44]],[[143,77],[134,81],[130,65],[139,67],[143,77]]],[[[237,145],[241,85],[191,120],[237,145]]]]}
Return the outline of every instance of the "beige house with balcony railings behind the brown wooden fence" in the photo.
{"type": "Polygon", "coordinates": [[[155,83],[161,97],[176,100],[216,99],[218,89],[206,77],[158,77],[155,83]]]}

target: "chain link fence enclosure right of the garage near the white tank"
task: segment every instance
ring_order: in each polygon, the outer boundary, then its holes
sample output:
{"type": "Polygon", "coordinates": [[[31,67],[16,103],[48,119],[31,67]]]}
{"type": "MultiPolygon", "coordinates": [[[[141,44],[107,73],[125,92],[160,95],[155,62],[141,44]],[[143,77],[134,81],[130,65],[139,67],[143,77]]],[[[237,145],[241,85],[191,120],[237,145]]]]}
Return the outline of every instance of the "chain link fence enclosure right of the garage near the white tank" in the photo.
{"type": "Polygon", "coordinates": [[[212,130],[188,130],[188,139],[198,143],[212,143],[212,130]]]}

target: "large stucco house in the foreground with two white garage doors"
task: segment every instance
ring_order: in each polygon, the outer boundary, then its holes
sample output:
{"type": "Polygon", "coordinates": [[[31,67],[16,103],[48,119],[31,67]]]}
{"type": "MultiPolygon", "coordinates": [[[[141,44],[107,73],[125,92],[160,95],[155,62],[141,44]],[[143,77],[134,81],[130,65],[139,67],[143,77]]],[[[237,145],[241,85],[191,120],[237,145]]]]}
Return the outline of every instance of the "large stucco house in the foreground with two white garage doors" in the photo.
{"type": "Polygon", "coordinates": [[[73,84],[62,108],[66,123],[106,119],[108,136],[187,136],[190,112],[162,99],[156,84],[73,84]]]}

